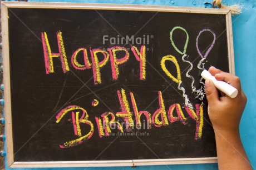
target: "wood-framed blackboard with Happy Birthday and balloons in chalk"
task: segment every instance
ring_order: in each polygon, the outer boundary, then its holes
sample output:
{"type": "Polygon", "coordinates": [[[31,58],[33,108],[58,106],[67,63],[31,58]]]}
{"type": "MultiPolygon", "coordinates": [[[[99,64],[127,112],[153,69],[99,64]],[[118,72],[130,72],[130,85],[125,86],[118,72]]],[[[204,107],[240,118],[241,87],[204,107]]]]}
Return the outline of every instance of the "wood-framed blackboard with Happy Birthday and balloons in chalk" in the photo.
{"type": "Polygon", "coordinates": [[[230,12],[2,3],[11,167],[216,162],[206,65],[234,73],[230,12]]]}

